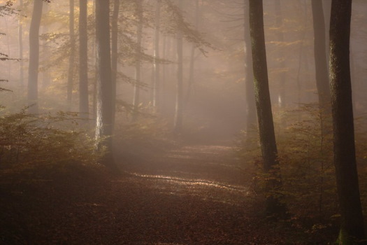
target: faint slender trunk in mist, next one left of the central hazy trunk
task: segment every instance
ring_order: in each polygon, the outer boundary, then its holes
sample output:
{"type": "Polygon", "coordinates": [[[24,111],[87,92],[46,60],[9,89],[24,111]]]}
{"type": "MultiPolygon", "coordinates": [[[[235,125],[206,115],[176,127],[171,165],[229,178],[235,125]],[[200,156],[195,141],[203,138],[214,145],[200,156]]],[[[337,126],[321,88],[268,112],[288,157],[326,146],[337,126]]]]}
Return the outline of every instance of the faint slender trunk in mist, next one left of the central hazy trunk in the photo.
{"type": "Polygon", "coordinates": [[[154,29],[154,85],[153,85],[153,107],[159,109],[159,93],[160,93],[160,80],[159,80],[159,31],[161,29],[161,0],[157,0],[157,6],[155,9],[155,29],[154,29]]]}

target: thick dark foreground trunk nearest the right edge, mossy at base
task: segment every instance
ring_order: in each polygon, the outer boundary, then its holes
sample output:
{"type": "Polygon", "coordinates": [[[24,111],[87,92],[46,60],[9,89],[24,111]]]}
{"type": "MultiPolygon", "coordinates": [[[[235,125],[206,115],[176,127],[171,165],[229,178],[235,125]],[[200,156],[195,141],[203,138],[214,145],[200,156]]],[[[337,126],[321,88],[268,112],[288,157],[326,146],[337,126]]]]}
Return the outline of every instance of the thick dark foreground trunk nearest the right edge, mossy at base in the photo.
{"type": "Polygon", "coordinates": [[[334,164],[340,206],[339,244],[365,239],[354,146],[350,79],[352,0],[333,0],[330,25],[330,88],[333,115],[334,164]]]}

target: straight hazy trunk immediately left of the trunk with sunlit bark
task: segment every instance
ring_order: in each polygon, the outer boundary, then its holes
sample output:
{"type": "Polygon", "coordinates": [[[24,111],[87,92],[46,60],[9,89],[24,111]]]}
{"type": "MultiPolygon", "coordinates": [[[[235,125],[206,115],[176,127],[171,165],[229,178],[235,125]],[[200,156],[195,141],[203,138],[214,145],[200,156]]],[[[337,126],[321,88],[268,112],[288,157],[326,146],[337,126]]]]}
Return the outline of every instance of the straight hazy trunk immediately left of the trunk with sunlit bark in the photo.
{"type": "Polygon", "coordinates": [[[87,0],[79,0],[79,112],[82,118],[89,117],[87,4],[87,0]]]}

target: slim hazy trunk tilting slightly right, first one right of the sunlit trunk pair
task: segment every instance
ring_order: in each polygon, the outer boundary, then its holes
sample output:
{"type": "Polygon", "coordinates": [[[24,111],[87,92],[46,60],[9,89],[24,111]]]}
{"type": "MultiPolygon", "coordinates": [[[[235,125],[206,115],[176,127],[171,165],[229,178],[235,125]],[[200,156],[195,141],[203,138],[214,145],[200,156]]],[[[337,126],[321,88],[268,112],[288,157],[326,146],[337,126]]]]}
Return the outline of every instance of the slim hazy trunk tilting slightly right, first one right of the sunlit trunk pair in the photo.
{"type": "Polygon", "coordinates": [[[140,83],[141,83],[141,39],[143,33],[143,0],[136,2],[136,15],[138,16],[138,26],[136,27],[136,61],[135,61],[135,84],[134,84],[134,99],[133,99],[133,118],[135,121],[138,117],[138,106],[140,104],[140,83]]]}

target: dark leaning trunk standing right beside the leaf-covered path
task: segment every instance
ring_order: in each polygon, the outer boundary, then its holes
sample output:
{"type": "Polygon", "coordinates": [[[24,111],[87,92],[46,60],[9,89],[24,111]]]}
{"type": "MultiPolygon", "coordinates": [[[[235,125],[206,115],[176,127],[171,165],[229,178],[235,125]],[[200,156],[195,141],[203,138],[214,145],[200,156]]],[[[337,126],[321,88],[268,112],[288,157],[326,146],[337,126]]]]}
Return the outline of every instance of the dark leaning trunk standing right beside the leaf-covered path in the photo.
{"type": "Polygon", "coordinates": [[[264,18],[262,0],[250,0],[250,36],[252,42],[252,62],[254,70],[254,88],[259,123],[259,136],[264,172],[270,175],[266,180],[266,188],[271,195],[266,197],[266,214],[284,215],[285,205],[280,196],[273,193],[282,186],[278,162],[278,150],[275,142],[273,114],[268,85],[268,67],[264,36],[264,18]]]}

